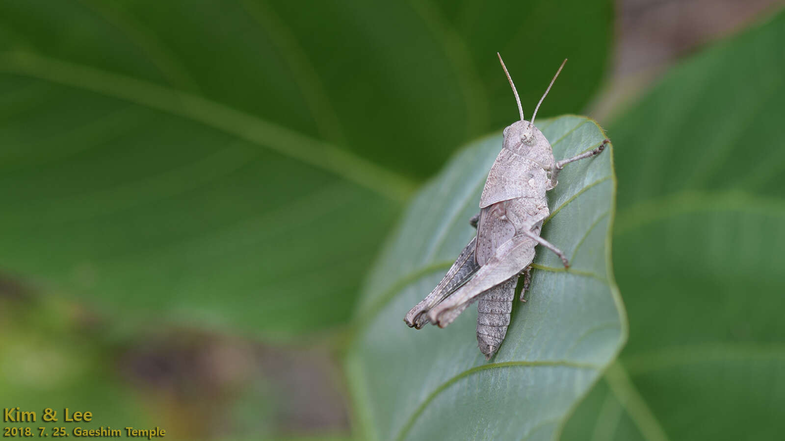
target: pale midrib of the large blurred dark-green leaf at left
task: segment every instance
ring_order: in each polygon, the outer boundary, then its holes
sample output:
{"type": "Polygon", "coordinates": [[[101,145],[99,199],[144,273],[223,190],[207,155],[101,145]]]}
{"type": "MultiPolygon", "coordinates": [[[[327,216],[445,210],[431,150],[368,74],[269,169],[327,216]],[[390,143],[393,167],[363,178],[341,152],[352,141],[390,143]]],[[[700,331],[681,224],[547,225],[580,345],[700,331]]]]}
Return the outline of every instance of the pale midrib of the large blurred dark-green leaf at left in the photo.
{"type": "Polygon", "coordinates": [[[200,122],[309,166],[327,170],[396,202],[406,201],[418,187],[418,182],[411,178],[333,144],[167,86],[20,51],[0,53],[0,71],[89,90],[200,122]]]}

